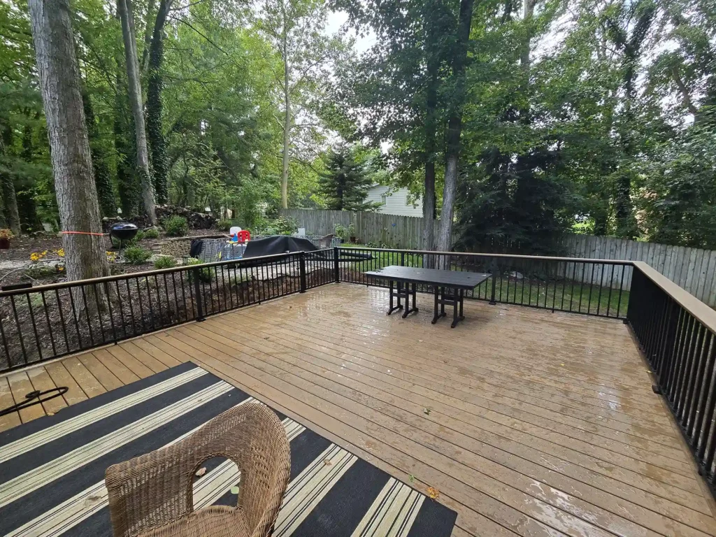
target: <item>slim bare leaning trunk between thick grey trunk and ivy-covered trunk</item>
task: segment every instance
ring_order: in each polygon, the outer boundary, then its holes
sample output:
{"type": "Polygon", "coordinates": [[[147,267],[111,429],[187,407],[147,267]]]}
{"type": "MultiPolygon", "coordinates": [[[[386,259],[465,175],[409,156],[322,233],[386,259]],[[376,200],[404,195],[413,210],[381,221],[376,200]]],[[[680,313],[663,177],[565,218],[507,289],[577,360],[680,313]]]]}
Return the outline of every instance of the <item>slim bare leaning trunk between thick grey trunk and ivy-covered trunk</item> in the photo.
{"type": "Polygon", "coordinates": [[[150,223],[157,225],[155,213],[154,189],[149,173],[149,154],[147,153],[147,131],[142,111],[142,87],[140,85],[139,64],[137,61],[137,40],[135,39],[130,0],[117,0],[117,11],[122,21],[122,38],[125,43],[125,59],[127,62],[127,82],[130,88],[132,115],[135,120],[135,136],[137,138],[137,175],[142,185],[144,210],[150,223]]]}

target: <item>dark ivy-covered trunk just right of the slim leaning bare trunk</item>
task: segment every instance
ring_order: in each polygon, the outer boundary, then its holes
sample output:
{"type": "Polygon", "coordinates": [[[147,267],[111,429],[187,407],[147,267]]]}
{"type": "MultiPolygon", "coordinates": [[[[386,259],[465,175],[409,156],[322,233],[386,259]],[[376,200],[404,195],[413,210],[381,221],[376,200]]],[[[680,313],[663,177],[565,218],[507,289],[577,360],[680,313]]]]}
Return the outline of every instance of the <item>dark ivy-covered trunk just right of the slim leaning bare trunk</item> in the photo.
{"type": "Polygon", "coordinates": [[[171,9],[172,0],[162,0],[157,11],[152,42],[149,51],[149,83],[147,84],[147,137],[152,152],[154,170],[154,189],[158,203],[167,203],[167,154],[166,141],[162,128],[162,88],[161,72],[164,59],[164,24],[171,9]]]}

